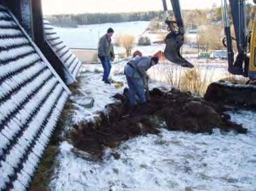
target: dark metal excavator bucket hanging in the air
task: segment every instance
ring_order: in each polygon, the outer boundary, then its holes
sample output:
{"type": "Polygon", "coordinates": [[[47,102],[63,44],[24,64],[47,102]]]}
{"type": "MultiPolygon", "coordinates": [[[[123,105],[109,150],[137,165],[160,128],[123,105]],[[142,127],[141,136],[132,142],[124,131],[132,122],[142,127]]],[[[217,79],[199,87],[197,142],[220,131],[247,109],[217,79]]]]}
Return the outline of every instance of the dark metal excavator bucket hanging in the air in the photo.
{"type": "Polygon", "coordinates": [[[184,43],[184,36],[175,32],[170,32],[165,37],[165,57],[182,67],[194,67],[192,63],[184,59],[180,54],[180,49],[184,43]]]}

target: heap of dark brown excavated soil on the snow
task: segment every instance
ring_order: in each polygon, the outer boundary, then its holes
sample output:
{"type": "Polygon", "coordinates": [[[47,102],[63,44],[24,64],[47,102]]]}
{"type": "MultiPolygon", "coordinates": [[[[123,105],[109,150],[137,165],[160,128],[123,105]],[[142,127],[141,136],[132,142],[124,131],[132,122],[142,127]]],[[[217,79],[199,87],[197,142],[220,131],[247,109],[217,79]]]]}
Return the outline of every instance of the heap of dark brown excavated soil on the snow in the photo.
{"type": "MultiPolygon", "coordinates": [[[[161,127],[191,133],[211,134],[214,128],[247,133],[247,129],[230,121],[230,115],[223,113],[226,111],[223,105],[193,97],[189,92],[175,89],[162,92],[155,88],[150,91],[148,103],[137,107],[129,106],[127,89],[114,98],[120,102],[107,105],[107,112],[99,113],[97,122],[74,126],[70,138],[80,151],[101,157],[104,148],[114,148],[135,136],[158,134],[161,127]]],[[[119,158],[118,153],[113,156],[119,158]]]]}

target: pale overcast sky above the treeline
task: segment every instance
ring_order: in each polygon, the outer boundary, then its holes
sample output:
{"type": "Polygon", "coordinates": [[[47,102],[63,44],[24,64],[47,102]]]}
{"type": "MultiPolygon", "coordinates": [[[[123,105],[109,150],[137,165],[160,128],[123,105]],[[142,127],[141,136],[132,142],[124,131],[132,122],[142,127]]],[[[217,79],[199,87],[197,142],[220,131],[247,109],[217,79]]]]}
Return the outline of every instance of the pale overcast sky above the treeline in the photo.
{"type": "MultiPolygon", "coordinates": [[[[249,2],[253,0],[247,0],[249,2]]],[[[163,10],[162,0],[42,0],[45,15],[163,10]]],[[[167,3],[170,1],[167,0],[167,3]]],[[[182,9],[211,8],[221,0],[180,0],[182,9]]],[[[169,4],[169,9],[171,6],[169,4]]]]}

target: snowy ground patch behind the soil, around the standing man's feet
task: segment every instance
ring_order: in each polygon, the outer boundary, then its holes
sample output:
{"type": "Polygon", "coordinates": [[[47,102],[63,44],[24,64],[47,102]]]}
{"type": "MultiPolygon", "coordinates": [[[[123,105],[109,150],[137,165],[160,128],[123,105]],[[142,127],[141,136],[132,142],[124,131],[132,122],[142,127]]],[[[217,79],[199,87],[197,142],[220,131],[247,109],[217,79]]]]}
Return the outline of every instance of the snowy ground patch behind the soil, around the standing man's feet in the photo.
{"type": "MultiPolygon", "coordinates": [[[[123,75],[123,67],[127,61],[122,61],[112,65],[111,76],[112,80],[116,82],[122,82],[124,85],[121,87],[115,87],[113,84],[108,85],[102,82],[102,65],[101,64],[89,64],[83,65],[81,72],[78,76],[81,86],[79,87],[86,97],[94,98],[94,105],[90,109],[84,109],[81,107],[87,100],[84,97],[72,96],[70,99],[75,101],[76,110],[72,113],[72,124],[78,124],[85,119],[93,119],[96,111],[104,109],[108,103],[113,103],[112,96],[116,92],[123,92],[123,88],[127,86],[125,76],[123,75]],[[86,117],[85,117],[86,115],[86,117]]],[[[170,90],[171,86],[164,84],[163,82],[154,82],[149,85],[150,88],[158,87],[163,90],[170,90]]]]}

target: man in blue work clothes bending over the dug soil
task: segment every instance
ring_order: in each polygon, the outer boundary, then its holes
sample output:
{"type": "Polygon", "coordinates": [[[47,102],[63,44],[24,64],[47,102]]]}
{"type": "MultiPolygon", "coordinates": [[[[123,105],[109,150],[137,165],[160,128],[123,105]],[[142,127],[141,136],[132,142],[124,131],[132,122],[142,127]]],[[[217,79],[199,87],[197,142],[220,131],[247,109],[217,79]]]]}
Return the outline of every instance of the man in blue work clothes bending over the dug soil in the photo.
{"type": "Polygon", "coordinates": [[[146,103],[145,90],[148,88],[147,70],[158,63],[158,57],[134,57],[125,65],[125,76],[129,86],[129,101],[136,105],[136,94],[139,103],[146,103]]]}

